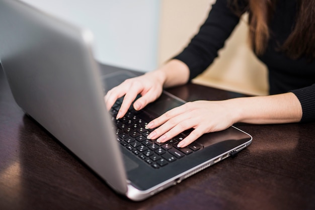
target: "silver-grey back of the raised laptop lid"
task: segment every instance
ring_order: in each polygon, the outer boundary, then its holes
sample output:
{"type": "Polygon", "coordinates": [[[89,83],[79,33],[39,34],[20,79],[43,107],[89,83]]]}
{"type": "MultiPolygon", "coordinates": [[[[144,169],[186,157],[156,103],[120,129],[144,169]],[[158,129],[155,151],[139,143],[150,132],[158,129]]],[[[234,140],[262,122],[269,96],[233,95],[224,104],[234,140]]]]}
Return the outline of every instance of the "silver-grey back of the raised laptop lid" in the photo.
{"type": "Polygon", "coordinates": [[[119,193],[119,145],[103,99],[88,30],[20,1],[0,1],[0,58],[18,105],[119,193]],[[109,148],[109,149],[107,149],[109,148]]]}

